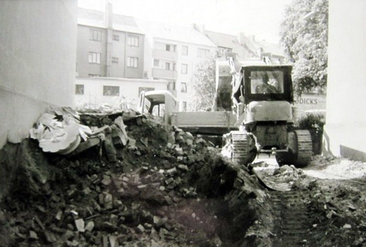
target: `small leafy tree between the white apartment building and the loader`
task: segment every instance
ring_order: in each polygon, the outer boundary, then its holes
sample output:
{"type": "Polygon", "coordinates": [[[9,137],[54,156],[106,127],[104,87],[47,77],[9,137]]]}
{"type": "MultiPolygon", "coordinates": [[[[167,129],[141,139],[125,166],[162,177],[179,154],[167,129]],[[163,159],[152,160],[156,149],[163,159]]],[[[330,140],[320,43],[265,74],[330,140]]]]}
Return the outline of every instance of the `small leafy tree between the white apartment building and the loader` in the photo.
{"type": "Polygon", "coordinates": [[[193,95],[190,108],[199,111],[212,108],[215,100],[216,57],[202,61],[195,68],[191,82],[193,95]]]}

